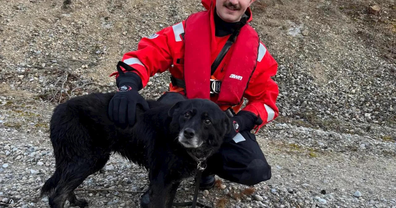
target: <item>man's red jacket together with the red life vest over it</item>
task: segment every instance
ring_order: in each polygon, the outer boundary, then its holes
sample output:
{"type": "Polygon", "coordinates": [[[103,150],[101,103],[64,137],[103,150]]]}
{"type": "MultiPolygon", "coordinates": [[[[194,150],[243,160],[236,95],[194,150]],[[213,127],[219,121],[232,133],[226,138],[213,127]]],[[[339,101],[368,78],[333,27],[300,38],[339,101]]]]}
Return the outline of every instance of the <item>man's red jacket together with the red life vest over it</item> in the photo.
{"type": "MultiPolygon", "coordinates": [[[[234,39],[215,71],[211,64],[233,34],[215,36],[213,14],[215,0],[202,0],[206,11],[190,15],[186,20],[142,38],[136,51],[128,52],[122,61],[137,73],[147,85],[150,76],[169,69],[173,77],[184,80],[185,88],[169,84],[169,91],[185,94],[188,98],[211,99],[223,110],[228,107],[240,111],[243,98],[248,100],[245,111],[259,116],[263,123],[256,126],[256,133],[278,114],[276,98],[278,85],[270,78],[278,69],[278,63],[259,40],[257,32],[245,24],[234,39]],[[221,80],[219,94],[210,94],[210,80],[221,80]]],[[[248,8],[249,19],[252,20],[248,8]]],[[[124,70],[124,69],[123,69],[124,70]]],[[[110,76],[117,75],[115,72],[110,76]]]]}

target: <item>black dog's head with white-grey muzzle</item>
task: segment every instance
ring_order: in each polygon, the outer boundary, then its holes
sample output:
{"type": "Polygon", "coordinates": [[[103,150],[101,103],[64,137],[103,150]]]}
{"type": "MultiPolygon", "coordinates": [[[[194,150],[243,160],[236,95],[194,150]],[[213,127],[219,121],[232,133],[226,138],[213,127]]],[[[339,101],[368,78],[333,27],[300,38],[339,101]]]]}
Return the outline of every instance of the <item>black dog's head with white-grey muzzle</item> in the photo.
{"type": "Polygon", "coordinates": [[[218,105],[207,99],[188,99],[173,105],[171,132],[179,135],[178,141],[189,149],[219,148],[230,130],[230,120],[218,105]]]}

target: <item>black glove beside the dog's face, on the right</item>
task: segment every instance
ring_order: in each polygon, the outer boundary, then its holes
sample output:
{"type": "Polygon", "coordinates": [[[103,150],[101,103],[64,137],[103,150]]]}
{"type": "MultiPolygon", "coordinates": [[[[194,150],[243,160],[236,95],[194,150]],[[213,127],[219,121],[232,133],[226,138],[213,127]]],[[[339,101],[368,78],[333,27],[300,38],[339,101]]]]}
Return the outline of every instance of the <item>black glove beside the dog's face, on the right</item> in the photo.
{"type": "Polygon", "coordinates": [[[238,114],[230,118],[231,130],[225,135],[225,142],[230,142],[239,132],[251,131],[255,125],[263,123],[260,117],[249,111],[239,111],[238,114]]]}

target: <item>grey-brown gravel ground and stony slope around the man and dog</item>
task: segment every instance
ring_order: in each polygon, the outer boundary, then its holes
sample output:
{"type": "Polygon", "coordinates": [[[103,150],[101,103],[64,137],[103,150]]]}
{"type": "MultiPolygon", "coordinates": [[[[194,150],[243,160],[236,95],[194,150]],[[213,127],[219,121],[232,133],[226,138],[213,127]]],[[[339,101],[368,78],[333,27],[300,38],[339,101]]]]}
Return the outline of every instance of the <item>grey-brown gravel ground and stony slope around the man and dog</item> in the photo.
{"type": "MultiPolygon", "coordinates": [[[[217,178],[215,189],[200,192],[201,202],[396,208],[396,50],[384,49],[396,43],[396,4],[379,1],[381,15],[374,16],[358,10],[366,2],[354,3],[355,9],[345,1],[255,2],[252,25],[280,64],[274,80],[281,116],[257,135],[272,178],[254,187],[217,178]]],[[[38,193],[54,171],[48,125],[58,102],[113,91],[108,75],[123,53],[200,9],[200,1],[181,0],[4,4],[0,207],[48,207],[38,193]]],[[[158,98],[168,75],[156,74],[142,94],[158,98]]],[[[113,155],[76,194],[93,208],[139,207],[147,180],[147,172],[113,155]]],[[[192,199],[193,190],[193,179],[183,181],[176,200],[192,199]]]]}

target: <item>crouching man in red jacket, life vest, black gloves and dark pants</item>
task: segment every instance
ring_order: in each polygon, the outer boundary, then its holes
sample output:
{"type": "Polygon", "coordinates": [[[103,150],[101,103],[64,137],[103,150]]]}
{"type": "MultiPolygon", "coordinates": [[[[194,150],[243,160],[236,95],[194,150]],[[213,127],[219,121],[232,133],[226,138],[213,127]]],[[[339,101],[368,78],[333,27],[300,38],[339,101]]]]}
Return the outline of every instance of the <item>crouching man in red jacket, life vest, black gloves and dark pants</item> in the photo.
{"type": "Polygon", "coordinates": [[[253,1],[202,0],[206,11],[142,38],[138,49],[122,58],[125,73],[110,75],[116,75],[118,92],[110,101],[109,116],[121,126],[133,125],[136,105],[148,108],[138,91],[150,76],[167,69],[171,83],[161,102],[204,98],[234,112],[232,131],[208,159],[202,189],[214,185],[214,175],[246,185],[271,177],[271,167],[250,131],[257,133],[278,116],[278,86],[270,78],[278,64],[247,24],[253,1]],[[241,110],[243,97],[249,102],[241,110]]]}

